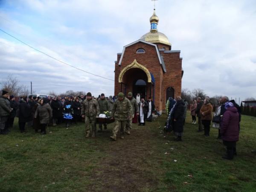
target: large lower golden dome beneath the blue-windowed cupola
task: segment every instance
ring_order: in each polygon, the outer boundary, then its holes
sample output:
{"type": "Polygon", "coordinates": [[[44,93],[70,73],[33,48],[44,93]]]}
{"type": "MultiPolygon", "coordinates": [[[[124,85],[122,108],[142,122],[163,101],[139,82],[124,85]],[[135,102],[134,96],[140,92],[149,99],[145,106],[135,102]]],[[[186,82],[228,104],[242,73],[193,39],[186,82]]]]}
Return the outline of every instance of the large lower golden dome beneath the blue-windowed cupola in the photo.
{"type": "Polygon", "coordinates": [[[161,44],[171,45],[166,35],[155,30],[152,30],[146,33],[140,38],[140,40],[147,41],[153,44],[161,43],[161,44]]]}

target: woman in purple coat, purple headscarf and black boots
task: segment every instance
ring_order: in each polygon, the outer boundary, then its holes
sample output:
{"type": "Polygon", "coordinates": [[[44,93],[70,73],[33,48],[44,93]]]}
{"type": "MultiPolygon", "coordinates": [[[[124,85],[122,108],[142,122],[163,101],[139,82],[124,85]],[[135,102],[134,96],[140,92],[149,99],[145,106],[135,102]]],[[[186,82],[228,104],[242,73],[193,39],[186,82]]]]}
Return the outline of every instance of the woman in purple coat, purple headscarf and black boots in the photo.
{"type": "Polygon", "coordinates": [[[221,136],[223,144],[227,147],[227,154],[222,158],[232,160],[236,155],[236,142],[239,140],[239,113],[233,103],[226,102],[221,119],[221,136]]]}

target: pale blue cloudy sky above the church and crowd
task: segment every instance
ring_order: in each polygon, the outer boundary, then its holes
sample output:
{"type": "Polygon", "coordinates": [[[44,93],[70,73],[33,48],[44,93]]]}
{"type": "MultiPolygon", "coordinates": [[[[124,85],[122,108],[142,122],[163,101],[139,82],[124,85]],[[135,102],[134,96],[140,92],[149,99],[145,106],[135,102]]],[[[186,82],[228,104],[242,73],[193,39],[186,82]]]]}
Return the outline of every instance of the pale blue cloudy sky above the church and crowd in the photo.
{"type": "MultiPolygon", "coordinates": [[[[0,29],[52,57],[114,78],[116,53],[150,29],[151,0],[0,0],[0,29]]],[[[183,88],[256,97],[255,0],[158,0],[158,30],[180,50],[183,88]]],[[[113,81],[64,65],[0,31],[0,78],[38,93],[113,95],[113,81]]]]}

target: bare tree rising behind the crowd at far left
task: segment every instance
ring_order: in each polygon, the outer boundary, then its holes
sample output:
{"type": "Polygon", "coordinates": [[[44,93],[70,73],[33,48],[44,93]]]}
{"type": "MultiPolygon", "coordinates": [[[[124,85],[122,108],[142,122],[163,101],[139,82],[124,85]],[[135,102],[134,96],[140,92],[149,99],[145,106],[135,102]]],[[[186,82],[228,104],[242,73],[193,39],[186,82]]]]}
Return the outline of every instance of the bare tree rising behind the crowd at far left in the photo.
{"type": "Polygon", "coordinates": [[[27,87],[25,85],[20,85],[20,81],[12,74],[7,76],[0,85],[1,88],[7,90],[10,95],[25,96],[29,94],[27,87]]]}

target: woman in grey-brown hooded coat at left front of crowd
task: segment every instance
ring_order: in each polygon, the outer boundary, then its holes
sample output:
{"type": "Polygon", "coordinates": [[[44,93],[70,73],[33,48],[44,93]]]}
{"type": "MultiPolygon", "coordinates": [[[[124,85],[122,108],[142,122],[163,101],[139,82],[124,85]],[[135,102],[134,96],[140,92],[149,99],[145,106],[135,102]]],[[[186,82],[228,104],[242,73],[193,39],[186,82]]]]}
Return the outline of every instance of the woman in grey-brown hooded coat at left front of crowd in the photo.
{"type": "Polygon", "coordinates": [[[40,105],[35,111],[35,118],[39,116],[41,125],[41,134],[46,134],[46,125],[49,124],[52,118],[52,108],[46,99],[39,100],[40,105]]]}

